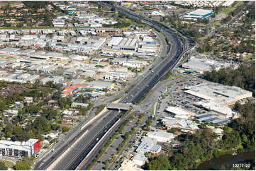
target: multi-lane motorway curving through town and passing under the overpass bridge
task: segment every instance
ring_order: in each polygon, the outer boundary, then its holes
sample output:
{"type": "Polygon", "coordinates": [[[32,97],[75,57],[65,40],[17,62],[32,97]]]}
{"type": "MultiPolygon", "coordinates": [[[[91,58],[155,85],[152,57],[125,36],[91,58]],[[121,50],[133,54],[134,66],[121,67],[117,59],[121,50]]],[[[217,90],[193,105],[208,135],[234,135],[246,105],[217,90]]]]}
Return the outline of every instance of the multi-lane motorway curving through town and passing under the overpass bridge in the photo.
{"type": "MultiPolygon", "coordinates": [[[[111,4],[104,5],[111,6],[111,4]]],[[[166,57],[154,66],[150,70],[150,73],[143,76],[133,90],[131,90],[130,93],[124,96],[121,100],[121,102],[132,102],[134,104],[143,98],[143,96],[146,95],[168,71],[174,68],[182,57],[182,52],[186,49],[182,40],[177,35],[174,35],[172,31],[164,25],[148,18],[142,18],[141,16],[131,13],[130,11],[126,11],[126,9],[118,6],[116,6],[116,10],[126,13],[126,15],[132,18],[140,19],[144,23],[160,30],[163,35],[165,35],[168,42],[171,42],[171,46],[168,49],[169,52],[167,52],[166,57]]],[[[164,46],[167,46],[166,42],[164,46]]],[[[98,119],[96,123],[92,123],[91,126],[85,126],[83,129],[75,129],[74,133],[76,136],[72,136],[72,138],[67,139],[67,141],[62,141],[63,145],[55,151],[52,151],[48,158],[40,160],[35,165],[35,170],[86,170],[89,163],[91,163],[101,148],[104,147],[104,144],[118,126],[115,126],[115,128],[112,129],[111,127],[115,123],[121,124],[120,117],[122,115],[123,112],[107,112],[104,115],[104,118],[98,119]],[[105,136],[104,139],[101,139],[108,129],[111,129],[111,131],[108,132],[108,135],[105,136]],[[74,144],[74,142],[76,143],[74,144]],[[94,148],[98,142],[99,146],[94,148]],[[74,146],[70,147],[70,144],[74,144],[74,146]],[[90,153],[92,148],[94,148],[94,153],[90,153]],[[67,151],[67,149],[69,149],[69,151],[67,151]],[[65,151],[67,151],[67,153],[65,153],[65,151]],[[65,155],[62,155],[62,153],[65,153],[65,155]],[[80,163],[82,163],[82,165],[80,165],[80,163]],[[79,168],[77,168],[78,166],[79,168]]]]}

